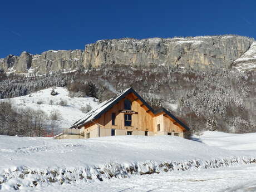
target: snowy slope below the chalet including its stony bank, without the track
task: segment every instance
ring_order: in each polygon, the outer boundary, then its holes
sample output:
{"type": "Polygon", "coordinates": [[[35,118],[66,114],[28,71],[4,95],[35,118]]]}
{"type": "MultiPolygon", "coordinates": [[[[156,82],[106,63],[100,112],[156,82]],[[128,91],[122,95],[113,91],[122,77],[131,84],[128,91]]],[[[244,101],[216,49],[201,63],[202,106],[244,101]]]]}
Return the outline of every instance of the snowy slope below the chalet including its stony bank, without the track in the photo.
{"type": "Polygon", "coordinates": [[[255,163],[255,154],[256,150],[225,150],[175,136],[87,140],[0,136],[0,190],[47,191],[47,186],[58,189],[111,178],[225,168],[255,163]]]}

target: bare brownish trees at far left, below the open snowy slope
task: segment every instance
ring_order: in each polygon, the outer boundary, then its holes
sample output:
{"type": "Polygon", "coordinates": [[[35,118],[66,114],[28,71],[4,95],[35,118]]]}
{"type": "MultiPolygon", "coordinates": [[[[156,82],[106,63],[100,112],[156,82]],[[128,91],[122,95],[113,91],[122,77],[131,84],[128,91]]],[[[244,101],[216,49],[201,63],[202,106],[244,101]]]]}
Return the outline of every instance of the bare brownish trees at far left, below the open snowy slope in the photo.
{"type": "Polygon", "coordinates": [[[47,115],[42,110],[17,108],[11,100],[0,102],[0,135],[54,136],[58,132],[59,111],[47,115]]]}

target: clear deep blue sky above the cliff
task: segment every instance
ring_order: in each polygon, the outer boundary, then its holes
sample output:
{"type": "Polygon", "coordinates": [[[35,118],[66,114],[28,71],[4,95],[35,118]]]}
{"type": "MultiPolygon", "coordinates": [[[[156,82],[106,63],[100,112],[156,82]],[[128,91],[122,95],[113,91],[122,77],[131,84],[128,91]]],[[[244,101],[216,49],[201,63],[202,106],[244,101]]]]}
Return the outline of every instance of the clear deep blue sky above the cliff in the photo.
{"type": "Polygon", "coordinates": [[[97,40],[237,34],[256,39],[256,1],[1,1],[0,58],[97,40]]]}

